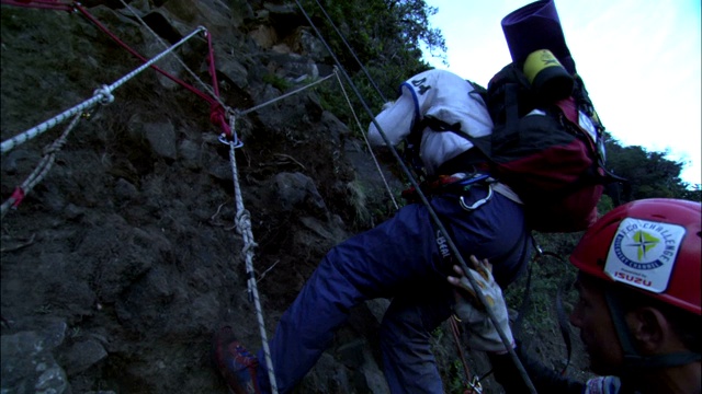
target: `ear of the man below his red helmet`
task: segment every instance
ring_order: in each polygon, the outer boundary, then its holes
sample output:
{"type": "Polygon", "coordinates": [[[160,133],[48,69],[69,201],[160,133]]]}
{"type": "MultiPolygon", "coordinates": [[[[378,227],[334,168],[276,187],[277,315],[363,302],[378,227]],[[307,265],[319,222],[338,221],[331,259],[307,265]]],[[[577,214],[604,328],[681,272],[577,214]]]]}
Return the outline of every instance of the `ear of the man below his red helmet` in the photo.
{"type": "Polygon", "coordinates": [[[657,354],[672,334],[668,320],[655,308],[638,308],[630,312],[627,323],[643,354],[657,354]]]}

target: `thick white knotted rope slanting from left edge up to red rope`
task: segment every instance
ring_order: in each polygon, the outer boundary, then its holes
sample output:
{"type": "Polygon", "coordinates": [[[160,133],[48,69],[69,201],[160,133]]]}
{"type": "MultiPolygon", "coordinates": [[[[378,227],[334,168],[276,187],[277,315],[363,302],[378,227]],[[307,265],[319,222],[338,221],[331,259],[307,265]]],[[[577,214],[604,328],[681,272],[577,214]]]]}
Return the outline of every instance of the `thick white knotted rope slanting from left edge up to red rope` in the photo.
{"type": "Polygon", "coordinates": [[[14,136],[14,137],[10,138],[7,141],[2,141],[2,144],[0,146],[0,153],[9,152],[13,148],[15,148],[15,147],[29,141],[30,139],[32,139],[32,138],[45,132],[46,130],[53,128],[54,126],[65,121],[69,117],[71,117],[73,115],[77,115],[77,114],[81,114],[86,109],[91,108],[92,106],[94,106],[94,105],[97,105],[99,103],[100,104],[109,104],[109,103],[111,103],[112,101],[114,101],[114,97],[112,96],[112,91],[114,91],[115,89],[120,88],[126,81],[128,81],[129,79],[134,78],[136,74],[138,74],[141,71],[144,71],[145,69],[150,67],[156,61],[160,60],[168,53],[170,53],[173,49],[176,49],[177,47],[181,46],[184,42],[186,42],[188,39],[192,38],[195,34],[200,33],[201,31],[205,31],[206,32],[206,28],[203,27],[203,26],[197,27],[194,32],[190,33],[183,39],[181,39],[180,42],[176,43],[169,49],[160,53],[159,55],[154,57],[151,60],[149,60],[149,61],[145,62],[144,65],[141,65],[139,68],[135,69],[134,71],[129,72],[128,74],[126,74],[126,76],[122,77],[121,79],[116,80],[111,85],[102,85],[102,88],[95,90],[94,95],[92,96],[92,99],[86,100],[84,102],[76,105],[75,107],[72,107],[70,109],[67,109],[64,113],[55,116],[54,118],[48,119],[48,120],[44,121],[43,124],[41,124],[38,126],[35,126],[35,127],[33,127],[33,128],[31,128],[31,129],[18,135],[18,136],[14,136]]]}

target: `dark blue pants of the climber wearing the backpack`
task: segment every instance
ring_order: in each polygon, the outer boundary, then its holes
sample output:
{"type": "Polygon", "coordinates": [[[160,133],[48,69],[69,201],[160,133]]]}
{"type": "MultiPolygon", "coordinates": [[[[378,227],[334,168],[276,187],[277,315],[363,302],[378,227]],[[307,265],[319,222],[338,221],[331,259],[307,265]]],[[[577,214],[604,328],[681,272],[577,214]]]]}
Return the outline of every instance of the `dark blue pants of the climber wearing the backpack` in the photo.
{"type": "MultiPolygon", "coordinates": [[[[484,198],[474,186],[467,204],[484,198]]],[[[431,205],[462,256],[490,258],[495,277],[506,286],[531,255],[521,206],[500,194],[468,212],[456,195],[441,195],[431,205]]],[[[290,392],[314,367],[349,310],[374,298],[392,298],[381,325],[385,376],[393,393],[443,393],[430,350],[431,332],[451,315],[452,273],[437,246],[427,207],[412,204],[378,227],[335,246],[285,311],[270,341],[281,393],[290,392]]],[[[469,263],[468,263],[469,264],[469,263]]],[[[269,392],[263,352],[259,385],[269,392]]]]}

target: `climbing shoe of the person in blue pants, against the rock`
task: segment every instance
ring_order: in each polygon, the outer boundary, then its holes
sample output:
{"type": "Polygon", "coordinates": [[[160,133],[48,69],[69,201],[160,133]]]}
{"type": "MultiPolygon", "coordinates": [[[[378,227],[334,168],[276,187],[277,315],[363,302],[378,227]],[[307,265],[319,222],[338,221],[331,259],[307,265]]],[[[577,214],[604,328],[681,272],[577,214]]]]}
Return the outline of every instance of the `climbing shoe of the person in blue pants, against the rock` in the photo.
{"type": "Polygon", "coordinates": [[[234,336],[231,327],[222,327],[215,334],[213,358],[231,393],[260,394],[256,379],[259,360],[241,346],[234,336]]]}

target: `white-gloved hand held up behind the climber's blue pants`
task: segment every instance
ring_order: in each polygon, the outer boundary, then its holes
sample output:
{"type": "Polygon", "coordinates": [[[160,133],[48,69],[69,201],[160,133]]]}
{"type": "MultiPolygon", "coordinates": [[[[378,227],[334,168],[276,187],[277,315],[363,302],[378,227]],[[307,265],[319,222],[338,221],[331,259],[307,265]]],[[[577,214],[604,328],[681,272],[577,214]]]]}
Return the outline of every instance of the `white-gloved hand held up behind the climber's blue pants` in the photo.
{"type": "MultiPolygon", "coordinates": [[[[487,301],[486,305],[489,308],[497,320],[497,324],[500,326],[507,338],[511,343],[511,347],[514,347],[514,337],[512,331],[509,327],[509,315],[507,313],[507,305],[505,304],[505,298],[502,297],[502,290],[495,281],[492,277],[492,265],[484,259],[479,262],[475,256],[471,256],[471,262],[477,269],[469,269],[468,275],[475,279],[478,286],[478,291],[485,296],[487,301]]],[[[468,345],[476,350],[490,351],[497,354],[505,354],[508,349],[505,347],[502,339],[500,338],[495,325],[490,321],[487,312],[478,304],[478,299],[475,296],[475,289],[471,286],[468,278],[466,278],[463,269],[458,266],[453,266],[453,270],[458,274],[458,277],[448,277],[451,285],[457,289],[455,313],[468,327],[469,337],[468,345]]]]}

